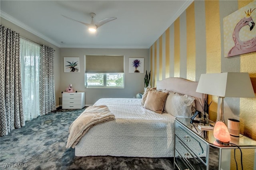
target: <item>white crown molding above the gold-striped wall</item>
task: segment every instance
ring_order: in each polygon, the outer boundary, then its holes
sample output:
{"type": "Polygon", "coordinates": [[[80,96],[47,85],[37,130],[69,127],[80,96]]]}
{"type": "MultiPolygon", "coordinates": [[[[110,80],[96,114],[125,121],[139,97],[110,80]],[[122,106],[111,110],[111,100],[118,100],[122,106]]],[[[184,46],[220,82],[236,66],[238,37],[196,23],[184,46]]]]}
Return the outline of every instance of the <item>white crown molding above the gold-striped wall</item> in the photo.
{"type": "Polygon", "coordinates": [[[180,7],[180,9],[172,16],[169,22],[166,22],[167,23],[166,26],[159,31],[160,34],[157,35],[157,37],[155,38],[155,41],[152,42],[152,44],[154,44],[158,40],[158,38],[166,31],[166,29],[168,29],[168,27],[170,27],[172,23],[174,23],[174,21],[188,8],[188,6],[190,6],[190,4],[192,4],[192,2],[194,2],[194,0],[186,0],[186,2],[180,7]]]}

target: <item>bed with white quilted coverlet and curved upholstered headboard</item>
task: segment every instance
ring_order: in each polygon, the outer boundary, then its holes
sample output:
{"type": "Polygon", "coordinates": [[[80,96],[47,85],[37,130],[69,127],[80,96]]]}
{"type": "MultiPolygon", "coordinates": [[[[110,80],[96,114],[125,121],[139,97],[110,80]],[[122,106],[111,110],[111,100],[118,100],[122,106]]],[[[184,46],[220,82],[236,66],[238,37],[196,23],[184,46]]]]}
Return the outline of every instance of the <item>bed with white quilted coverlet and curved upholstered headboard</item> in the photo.
{"type": "MultiPolygon", "coordinates": [[[[192,96],[196,110],[202,111],[196,92],[197,82],[183,78],[166,78],[156,83],[157,90],[168,90],[192,96]]],[[[80,139],[76,156],[173,157],[175,114],[145,109],[142,99],[102,98],[94,106],[106,105],[115,119],[100,123],[80,139]]],[[[167,100],[166,100],[167,102],[167,100]]]]}

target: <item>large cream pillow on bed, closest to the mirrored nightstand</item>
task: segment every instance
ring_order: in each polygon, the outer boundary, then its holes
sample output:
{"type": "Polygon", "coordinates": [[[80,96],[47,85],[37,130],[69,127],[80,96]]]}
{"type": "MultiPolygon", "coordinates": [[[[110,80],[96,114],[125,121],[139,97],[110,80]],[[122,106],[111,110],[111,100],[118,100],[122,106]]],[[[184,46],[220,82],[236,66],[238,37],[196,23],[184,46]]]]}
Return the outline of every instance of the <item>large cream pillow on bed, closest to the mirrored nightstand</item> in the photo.
{"type": "Polygon", "coordinates": [[[194,100],[195,98],[188,95],[169,93],[164,105],[164,112],[175,117],[191,117],[195,112],[194,100]]]}

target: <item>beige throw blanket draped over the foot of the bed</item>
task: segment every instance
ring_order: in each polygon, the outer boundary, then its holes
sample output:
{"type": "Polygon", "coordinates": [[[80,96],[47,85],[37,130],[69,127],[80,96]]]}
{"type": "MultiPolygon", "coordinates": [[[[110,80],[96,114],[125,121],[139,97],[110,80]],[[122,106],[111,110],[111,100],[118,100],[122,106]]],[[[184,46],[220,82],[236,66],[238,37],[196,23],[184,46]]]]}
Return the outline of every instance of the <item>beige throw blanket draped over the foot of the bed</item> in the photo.
{"type": "Polygon", "coordinates": [[[107,106],[89,106],[69,127],[69,136],[66,148],[75,148],[81,137],[94,125],[114,120],[115,116],[107,106]]]}

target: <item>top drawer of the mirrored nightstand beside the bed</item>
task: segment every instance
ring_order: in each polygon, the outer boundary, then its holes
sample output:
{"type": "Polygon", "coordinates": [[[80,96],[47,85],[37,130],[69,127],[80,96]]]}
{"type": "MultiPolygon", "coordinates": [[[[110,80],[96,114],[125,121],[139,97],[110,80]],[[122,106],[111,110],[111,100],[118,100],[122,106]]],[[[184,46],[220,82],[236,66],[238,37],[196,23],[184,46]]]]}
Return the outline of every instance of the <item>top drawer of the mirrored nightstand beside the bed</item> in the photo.
{"type": "Polygon", "coordinates": [[[175,122],[175,135],[204,163],[207,162],[207,144],[192,132],[188,131],[177,121],[175,122]]]}

